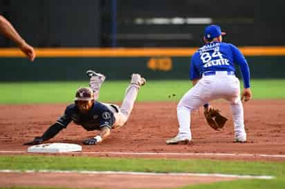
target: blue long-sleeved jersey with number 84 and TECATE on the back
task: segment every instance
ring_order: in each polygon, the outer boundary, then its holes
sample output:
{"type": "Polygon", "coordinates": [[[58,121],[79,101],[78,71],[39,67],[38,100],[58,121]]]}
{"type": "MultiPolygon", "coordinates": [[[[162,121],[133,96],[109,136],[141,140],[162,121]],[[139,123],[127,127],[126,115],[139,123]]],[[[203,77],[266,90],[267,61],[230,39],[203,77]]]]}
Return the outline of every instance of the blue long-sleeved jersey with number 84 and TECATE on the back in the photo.
{"type": "Polygon", "coordinates": [[[235,63],[241,69],[244,88],[250,87],[250,70],[240,50],[231,43],[214,41],[199,48],[191,59],[190,79],[200,79],[203,72],[232,71],[235,63]]]}

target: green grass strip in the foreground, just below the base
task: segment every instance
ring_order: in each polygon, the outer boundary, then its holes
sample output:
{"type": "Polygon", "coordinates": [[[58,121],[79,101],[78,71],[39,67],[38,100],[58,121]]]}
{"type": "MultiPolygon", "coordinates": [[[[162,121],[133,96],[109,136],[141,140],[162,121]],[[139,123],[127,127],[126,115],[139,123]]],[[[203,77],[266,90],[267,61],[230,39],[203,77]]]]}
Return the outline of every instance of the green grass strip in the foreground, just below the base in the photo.
{"type": "Polygon", "coordinates": [[[237,175],[271,175],[273,180],[238,180],[188,186],[186,188],[284,188],[285,163],[262,161],[218,161],[207,159],[121,159],[42,155],[0,156],[0,169],[96,170],[134,172],[199,172],[237,175]]]}

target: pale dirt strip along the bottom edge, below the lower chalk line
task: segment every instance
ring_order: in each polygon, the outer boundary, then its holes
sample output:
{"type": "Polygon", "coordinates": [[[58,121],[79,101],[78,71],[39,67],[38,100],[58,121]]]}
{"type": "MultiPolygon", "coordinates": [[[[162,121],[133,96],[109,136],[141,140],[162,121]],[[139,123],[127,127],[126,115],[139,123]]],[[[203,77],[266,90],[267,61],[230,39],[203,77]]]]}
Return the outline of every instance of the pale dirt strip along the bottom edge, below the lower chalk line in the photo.
{"type": "Polygon", "coordinates": [[[173,175],[92,175],[80,173],[0,173],[0,186],[66,188],[169,188],[237,178],[173,175]]]}

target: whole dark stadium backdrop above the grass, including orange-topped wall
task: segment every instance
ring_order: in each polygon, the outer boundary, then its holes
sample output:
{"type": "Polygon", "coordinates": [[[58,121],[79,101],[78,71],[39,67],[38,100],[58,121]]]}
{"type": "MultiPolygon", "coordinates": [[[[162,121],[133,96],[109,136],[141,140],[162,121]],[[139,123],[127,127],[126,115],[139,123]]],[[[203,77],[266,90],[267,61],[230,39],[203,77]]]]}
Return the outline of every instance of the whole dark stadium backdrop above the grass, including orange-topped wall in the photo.
{"type": "Polygon", "coordinates": [[[241,48],[252,78],[284,78],[284,5],[257,0],[1,0],[0,13],[37,48],[38,57],[28,63],[1,37],[5,71],[0,81],[85,80],[86,69],[100,70],[111,80],[131,72],[148,79],[187,79],[190,56],[203,44],[203,28],[210,23],[228,33],[224,41],[241,48]]]}

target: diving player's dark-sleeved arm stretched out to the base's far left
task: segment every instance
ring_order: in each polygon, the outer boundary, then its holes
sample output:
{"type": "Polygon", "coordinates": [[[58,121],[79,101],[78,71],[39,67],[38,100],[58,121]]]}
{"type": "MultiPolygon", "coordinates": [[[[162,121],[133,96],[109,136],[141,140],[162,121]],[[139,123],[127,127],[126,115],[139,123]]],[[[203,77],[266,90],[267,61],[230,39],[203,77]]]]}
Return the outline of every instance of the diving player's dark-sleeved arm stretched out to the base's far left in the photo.
{"type": "Polygon", "coordinates": [[[57,133],[59,133],[59,131],[61,131],[63,128],[64,127],[59,123],[55,123],[52,126],[50,126],[48,130],[46,130],[46,132],[44,132],[44,135],[42,135],[42,137],[35,137],[33,141],[24,143],[24,145],[37,145],[43,143],[44,141],[47,141],[48,139],[55,137],[55,135],[57,135],[57,133]]]}

